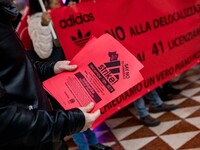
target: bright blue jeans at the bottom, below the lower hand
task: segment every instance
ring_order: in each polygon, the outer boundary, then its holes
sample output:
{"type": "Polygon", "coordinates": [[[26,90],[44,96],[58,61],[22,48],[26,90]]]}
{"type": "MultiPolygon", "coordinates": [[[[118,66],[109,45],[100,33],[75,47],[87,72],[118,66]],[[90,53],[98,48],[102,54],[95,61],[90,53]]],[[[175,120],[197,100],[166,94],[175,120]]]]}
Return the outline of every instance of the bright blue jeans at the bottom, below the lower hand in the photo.
{"type": "Polygon", "coordinates": [[[84,132],[78,132],[72,135],[72,138],[79,150],[89,150],[89,145],[98,144],[94,131],[87,129],[84,132]]]}

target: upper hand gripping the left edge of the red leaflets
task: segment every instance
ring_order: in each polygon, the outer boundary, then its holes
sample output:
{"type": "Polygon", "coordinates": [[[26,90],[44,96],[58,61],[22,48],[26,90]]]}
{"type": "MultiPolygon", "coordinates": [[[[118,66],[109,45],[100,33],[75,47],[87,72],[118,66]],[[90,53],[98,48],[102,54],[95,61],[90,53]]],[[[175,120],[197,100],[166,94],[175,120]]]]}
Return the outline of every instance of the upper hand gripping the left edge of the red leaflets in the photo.
{"type": "Polygon", "coordinates": [[[58,74],[64,71],[74,71],[77,68],[77,65],[69,65],[70,61],[63,60],[58,61],[54,65],[54,73],[58,74]]]}

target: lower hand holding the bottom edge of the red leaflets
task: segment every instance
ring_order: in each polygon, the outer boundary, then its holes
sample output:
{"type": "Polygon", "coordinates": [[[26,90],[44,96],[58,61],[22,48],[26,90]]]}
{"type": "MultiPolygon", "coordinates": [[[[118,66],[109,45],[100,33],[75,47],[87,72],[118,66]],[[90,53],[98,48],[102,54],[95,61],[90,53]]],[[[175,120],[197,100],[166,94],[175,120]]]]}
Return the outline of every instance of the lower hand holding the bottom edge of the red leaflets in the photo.
{"type": "Polygon", "coordinates": [[[81,132],[86,131],[88,128],[90,128],[93,122],[100,116],[101,113],[99,109],[94,113],[89,113],[93,108],[94,108],[94,103],[90,103],[85,107],[79,108],[85,115],[85,125],[81,130],[81,132]]]}

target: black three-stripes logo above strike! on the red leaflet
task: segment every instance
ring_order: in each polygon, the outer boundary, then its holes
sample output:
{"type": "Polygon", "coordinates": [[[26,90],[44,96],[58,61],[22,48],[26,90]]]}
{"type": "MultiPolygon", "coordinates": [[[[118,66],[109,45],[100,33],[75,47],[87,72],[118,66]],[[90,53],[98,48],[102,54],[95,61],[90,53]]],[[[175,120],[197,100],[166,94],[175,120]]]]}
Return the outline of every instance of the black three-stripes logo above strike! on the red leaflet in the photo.
{"type": "Polygon", "coordinates": [[[118,60],[118,54],[116,52],[109,52],[110,62],[104,63],[106,68],[119,80],[120,73],[120,61],[118,60]]]}

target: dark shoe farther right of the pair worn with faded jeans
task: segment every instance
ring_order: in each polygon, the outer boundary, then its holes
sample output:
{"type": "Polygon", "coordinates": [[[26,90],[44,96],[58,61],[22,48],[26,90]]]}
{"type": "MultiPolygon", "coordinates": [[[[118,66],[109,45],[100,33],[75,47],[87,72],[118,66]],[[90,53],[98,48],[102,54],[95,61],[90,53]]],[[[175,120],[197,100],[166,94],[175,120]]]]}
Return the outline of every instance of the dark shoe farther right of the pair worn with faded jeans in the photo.
{"type": "Polygon", "coordinates": [[[149,107],[149,112],[158,113],[158,112],[163,112],[163,111],[171,111],[174,109],[176,109],[176,105],[163,103],[162,105],[158,107],[149,107]]]}

